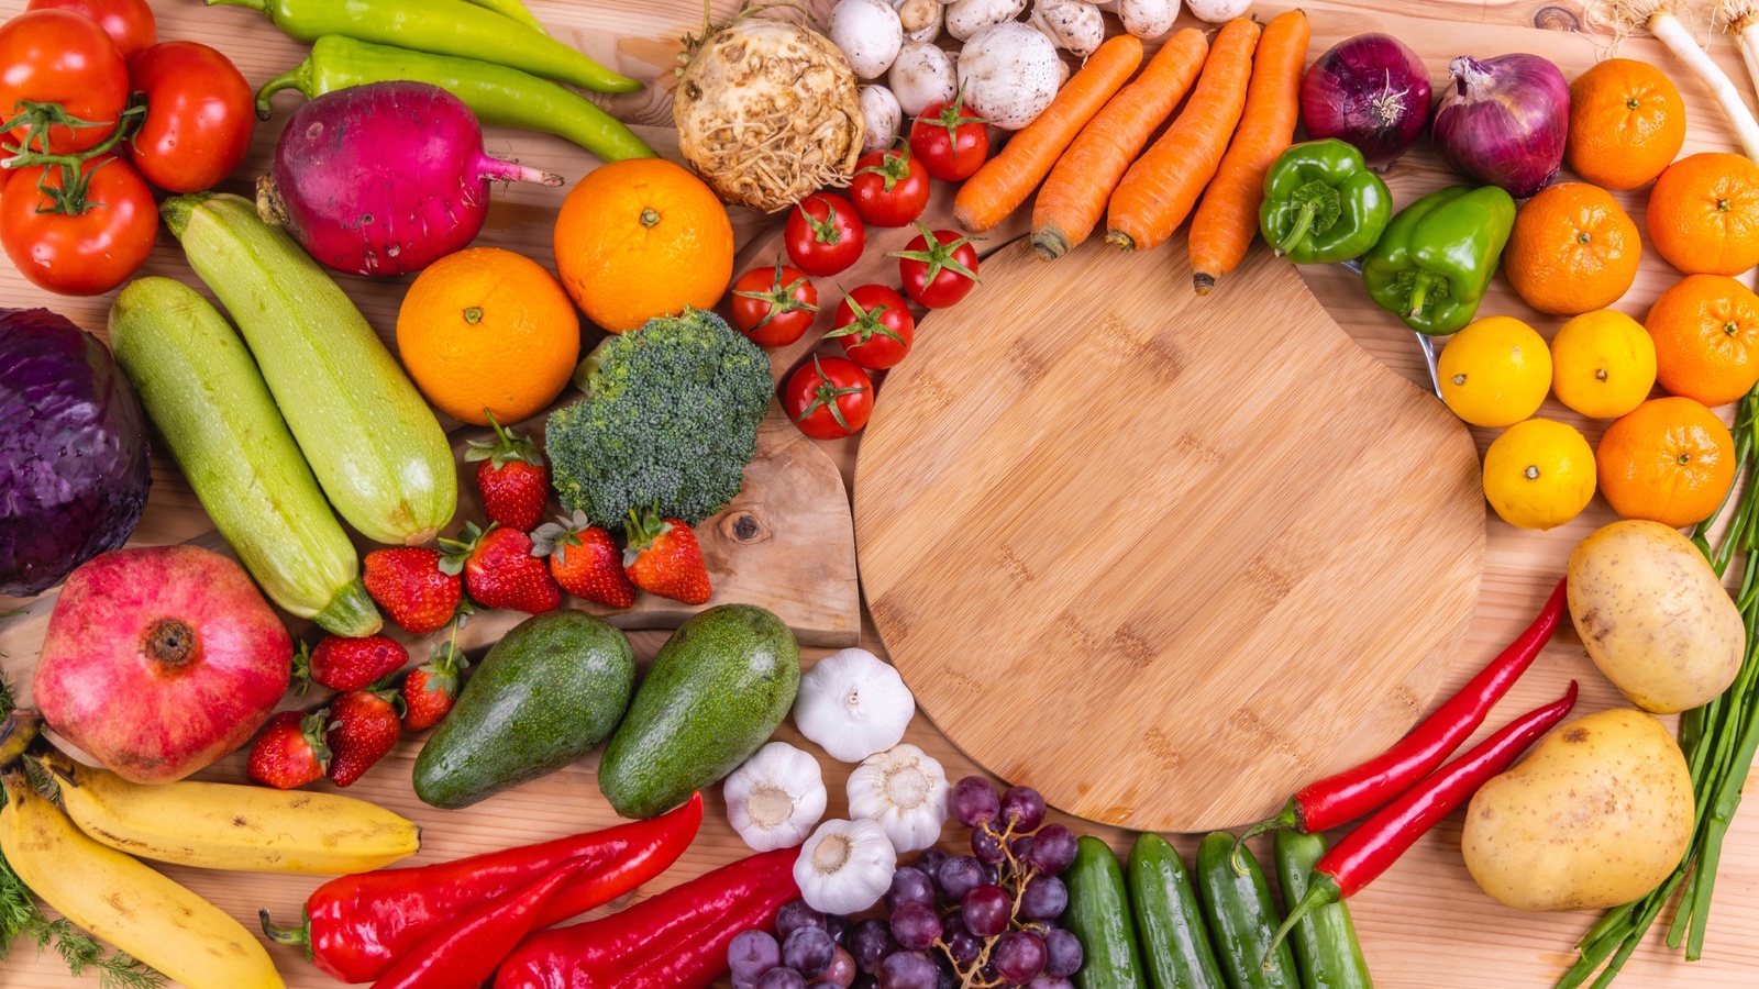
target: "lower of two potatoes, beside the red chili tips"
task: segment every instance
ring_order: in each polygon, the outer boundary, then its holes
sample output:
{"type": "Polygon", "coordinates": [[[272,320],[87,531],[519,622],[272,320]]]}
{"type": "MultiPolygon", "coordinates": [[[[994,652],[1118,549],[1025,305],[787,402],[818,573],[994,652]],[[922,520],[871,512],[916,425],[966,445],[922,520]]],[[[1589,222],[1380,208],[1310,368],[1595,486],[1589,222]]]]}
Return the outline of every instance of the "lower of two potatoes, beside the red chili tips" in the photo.
{"type": "Polygon", "coordinates": [[[1615,707],[1551,732],[1465,811],[1460,853],[1518,910],[1618,906],[1660,885],[1692,839],[1692,778],[1650,714],[1615,707]]]}

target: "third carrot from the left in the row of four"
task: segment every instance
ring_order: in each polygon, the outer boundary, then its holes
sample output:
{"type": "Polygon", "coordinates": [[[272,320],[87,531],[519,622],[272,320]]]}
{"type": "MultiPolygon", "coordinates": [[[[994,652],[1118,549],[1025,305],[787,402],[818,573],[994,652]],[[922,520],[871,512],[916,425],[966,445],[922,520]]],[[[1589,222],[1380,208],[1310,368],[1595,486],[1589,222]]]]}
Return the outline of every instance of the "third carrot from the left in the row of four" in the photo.
{"type": "Polygon", "coordinates": [[[1221,26],[1186,113],[1147,155],[1136,158],[1112,194],[1108,245],[1124,250],[1159,246],[1191,215],[1203,187],[1215,176],[1233,125],[1240,123],[1256,46],[1256,21],[1235,18],[1221,26]]]}

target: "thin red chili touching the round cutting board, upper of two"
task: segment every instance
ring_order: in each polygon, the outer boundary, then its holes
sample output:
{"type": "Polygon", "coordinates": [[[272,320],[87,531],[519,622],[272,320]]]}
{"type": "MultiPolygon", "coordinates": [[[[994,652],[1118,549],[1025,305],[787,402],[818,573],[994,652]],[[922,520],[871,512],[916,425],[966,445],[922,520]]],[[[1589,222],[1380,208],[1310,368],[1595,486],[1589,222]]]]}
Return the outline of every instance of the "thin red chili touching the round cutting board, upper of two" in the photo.
{"type": "Polygon", "coordinates": [[[1284,827],[1293,827],[1302,834],[1332,831],[1409,790],[1412,783],[1428,776],[1444,758],[1453,755],[1460,743],[1472,737],[1472,732],[1485,723],[1485,714],[1490,714],[1497,700],[1502,700],[1502,695],[1514,686],[1527,667],[1534,665],[1539,649],[1544,649],[1544,644],[1551,641],[1562,618],[1564,581],[1558,581],[1534,623],[1421,725],[1411,729],[1393,748],[1361,766],[1309,783],[1277,817],[1245,829],[1235,839],[1235,852],[1247,838],[1266,831],[1284,827]]]}

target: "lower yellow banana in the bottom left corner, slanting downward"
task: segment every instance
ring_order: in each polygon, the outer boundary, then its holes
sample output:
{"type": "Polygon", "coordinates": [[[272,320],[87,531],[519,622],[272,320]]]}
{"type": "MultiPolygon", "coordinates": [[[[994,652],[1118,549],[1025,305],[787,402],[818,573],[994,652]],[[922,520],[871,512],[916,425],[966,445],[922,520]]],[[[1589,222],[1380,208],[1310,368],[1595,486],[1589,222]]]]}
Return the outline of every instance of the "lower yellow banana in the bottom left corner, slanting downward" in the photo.
{"type": "Polygon", "coordinates": [[[69,920],[190,989],[285,989],[269,952],[218,906],[90,839],[23,771],[4,774],[0,852],[69,920]]]}

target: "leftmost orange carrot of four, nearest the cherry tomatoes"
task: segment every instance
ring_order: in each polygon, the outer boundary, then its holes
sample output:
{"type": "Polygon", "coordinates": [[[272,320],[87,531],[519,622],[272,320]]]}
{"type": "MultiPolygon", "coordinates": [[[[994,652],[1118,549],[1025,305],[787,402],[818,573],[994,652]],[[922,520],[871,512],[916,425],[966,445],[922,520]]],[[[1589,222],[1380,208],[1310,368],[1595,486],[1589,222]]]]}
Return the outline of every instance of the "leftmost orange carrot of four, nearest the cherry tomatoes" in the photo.
{"type": "Polygon", "coordinates": [[[1038,183],[1050,174],[1057,157],[1099,113],[1129,76],[1142,65],[1142,42],[1131,35],[1117,35],[1101,44],[1087,65],[1075,74],[1057,99],[1008,139],[1001,155],[983,162],[983,167],[959,187],[953,199],[953,218],[971,232],[1001,223],[1013,213],[1038,183]]]}

